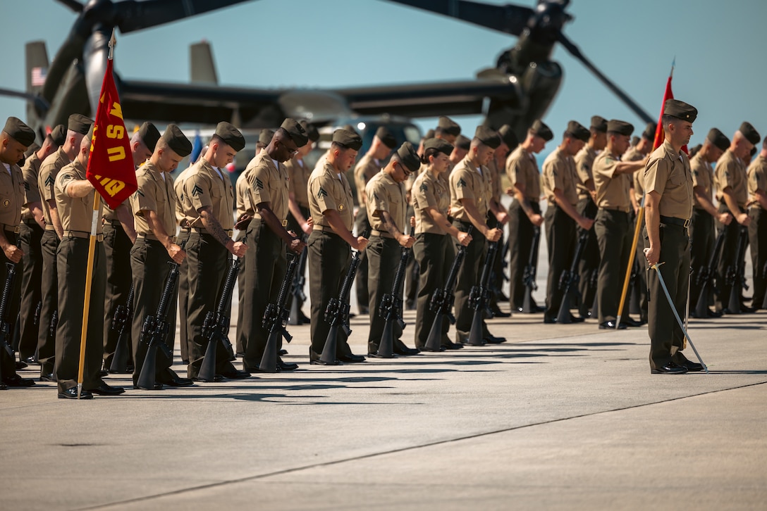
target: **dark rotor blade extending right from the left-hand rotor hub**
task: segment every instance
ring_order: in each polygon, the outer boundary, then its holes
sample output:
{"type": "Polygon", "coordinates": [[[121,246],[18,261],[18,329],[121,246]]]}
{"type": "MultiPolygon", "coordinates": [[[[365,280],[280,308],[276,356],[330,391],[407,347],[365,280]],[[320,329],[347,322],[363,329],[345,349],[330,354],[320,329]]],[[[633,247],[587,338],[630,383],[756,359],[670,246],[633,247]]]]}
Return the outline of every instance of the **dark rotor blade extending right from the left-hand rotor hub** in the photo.
{"type": "Polygon", "coordinates": [[[115,2],[114,25],[123,34],[216,11],[250,0],[126,0],[115,2]]]}

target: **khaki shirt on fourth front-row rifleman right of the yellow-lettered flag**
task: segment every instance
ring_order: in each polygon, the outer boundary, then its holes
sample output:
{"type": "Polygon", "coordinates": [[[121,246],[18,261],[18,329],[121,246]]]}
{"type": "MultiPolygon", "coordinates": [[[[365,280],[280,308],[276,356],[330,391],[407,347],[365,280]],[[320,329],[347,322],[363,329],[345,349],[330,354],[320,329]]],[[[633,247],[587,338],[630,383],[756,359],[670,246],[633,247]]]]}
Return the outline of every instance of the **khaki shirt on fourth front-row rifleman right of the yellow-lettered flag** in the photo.
{"type": "Polygon", "coordinates": [[[351,231],[351,225],[354,223],[352,210],[354,208],[354,198],[351,195],[351,186],[346,179],[346,175],[339,174],[328,159],[323,160],[323,165],[314,168],[309,176],[307,192],[309,195],[309,211],[311,218],[314,219],[315,226],[322,226],[326,230],[331,230],[331,224],[324,218],[324,212],[329,209],[338,211],[344,226],[351,231]]]}

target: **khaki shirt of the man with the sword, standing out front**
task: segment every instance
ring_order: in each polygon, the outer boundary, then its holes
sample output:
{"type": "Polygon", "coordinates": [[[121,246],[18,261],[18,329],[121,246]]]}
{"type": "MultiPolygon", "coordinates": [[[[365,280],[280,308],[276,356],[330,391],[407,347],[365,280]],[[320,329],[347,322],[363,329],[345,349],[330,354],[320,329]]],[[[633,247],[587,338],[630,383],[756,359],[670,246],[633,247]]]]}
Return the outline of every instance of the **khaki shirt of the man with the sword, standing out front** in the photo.
{"type": "MultiPolygon", "coordinates": [[[[641,172],[641,171],[640,171],[641,172]]],[[[666,141],[655,149],[644,169],[647,193],[658,192],[658,212],[665,217],[687,220],[693,216],[693,173],[690,159],[666,141]]]]}

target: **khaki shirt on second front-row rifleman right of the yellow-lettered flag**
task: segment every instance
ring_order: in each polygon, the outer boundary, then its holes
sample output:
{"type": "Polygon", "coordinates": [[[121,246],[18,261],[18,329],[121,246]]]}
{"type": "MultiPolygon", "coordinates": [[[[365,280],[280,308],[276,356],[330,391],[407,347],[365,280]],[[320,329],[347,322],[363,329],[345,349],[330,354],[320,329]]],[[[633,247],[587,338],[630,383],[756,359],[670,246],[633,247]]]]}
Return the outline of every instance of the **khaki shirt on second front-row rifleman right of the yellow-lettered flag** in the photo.
{"type": "Polygon", "coordinates": [[[189,175],[184,179],[183,190],[184,200],[181,206],[191,227],[204,228],[199,218],[199,210],[209,207],[224,231],[234,228],[232,211],[235,195],[226,169],[216,172],[205,158],[200,158],[192,165],[189,175]]]}

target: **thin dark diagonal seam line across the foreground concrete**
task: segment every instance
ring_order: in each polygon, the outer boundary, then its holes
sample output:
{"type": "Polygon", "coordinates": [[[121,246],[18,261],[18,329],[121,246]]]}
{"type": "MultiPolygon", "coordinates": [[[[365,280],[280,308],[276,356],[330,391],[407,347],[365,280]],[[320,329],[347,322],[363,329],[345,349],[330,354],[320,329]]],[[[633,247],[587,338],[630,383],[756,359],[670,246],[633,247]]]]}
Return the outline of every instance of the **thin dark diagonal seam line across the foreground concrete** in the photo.
{"type": "Polygon", "coordinates": [[[626,407],[623,407],[623,408],[613,408],[611,410],[594,411],[594,412],[588,413],[588,414],[580,414],[580,415],[573,415],[571,417],[563,417],[563,418],[551,419],[550,421],[535,422],[535,423],[532,423],[532,424],[523,424],[521,426],[514,426],[514,427],[505,427],[503,429],[493,430],[493,431],[485,431],[483,433],[471,434],[471,435],[467,435],[465,437],[449,438],[449,439],[446,439],[446,440],[429,442],[427,444],[411,445],[411,446],[408,446],[408,447],[400,447],[398,449],[384,450],[384,451],[380,451],[380,452],[377,452],[377,453],[362,454],[360,456],[344,458],[344,459],[341,459],[341,460],[323,461],[321,463],[309,464],[309,465],[304,465],[304,466],[301,466],[301,467],[286,468],[286,469],[283,469],[283,470],[276,470],[275,472],[261,473],[261,474],[255,475],[255,476],[248,476],[248,477],[241,477],[239,479],[219,481],[217,483],[207,483],[207,484],[201,484],[199,486],[189,486],[188,488],[182,488],[182,489],[173,490],[173,491],[170,491],[170,492],[156,493],[156,494],[153,494],[153,495],[140,496],[140,497],[137,497],[135,499],[120,500],[120,501],[113,502],[113,503],[98,504],[96,506],[88,506],[88,507],[75,508],[75,510],[76,511],[90,511],[91,509],[105,509],[105,508],[110,508],[110,507],[114,507],[114,506],[123,506],[125,504],[132,504],[132,503],[139,503],[139,502],[143,502],[143,501],[154,500],[154,499],[158,499],[158,498],[161,498],[161,497],[164,497],[164,496],[180,495],[182,493],[189,493],[189,492],[193,492],[193,491],[196,491],[196,490],[208,490],[210,488],[216,488],[217,486],[226,486],[226,485],[229,485],[229,484],[245,483],[247,481],[265,479],[267,477],[281,476],[281,475],[284,475],[286,473],[300,472],[301,470],[310,470],[310,469],[318,468],[318,467],[329,467],[329,466],[332,466],[332,465],[339,465],[339,464],[343,464],[343,463],[347,463],[347,462],[351,462],[351,461],[357,461],[357,460],[366,460],[368,458],[384,456],[384,455],[387,455],[387,454],[399,454],[399,453],[402,453],[402,452],[406,452],[408,450],[416,450],[416,449],[422,449],[424,447],[434,447],[434,446],[437,446],[437,445],[451,444],[453,442],[472,440],[474,438],[479,438],[479,437],[487,437],[487,436],[490,436],[492,434],[506,433],[506,432],[509,432],[509,431],[521,430],[521,429],[525,429],[525,428],[528,428],[528,427],[545,426],[547,424],[556,424],[558,422],[571,421],[573,419],[579,419],[579,418],[593,417],[595,415],[601,415],[601,414],[609,414],[609,413],[613,413],[613,412],[616,412],[616,411],[626,411],[626,410],[633,410],[635,408],[643,408],[645,406],[662,405],[663,403],[670,403],[672,401],[680,401],[682,399],[688,399],[688,398],[697,398],[697,397],[700,397],[702,395],[717,394],[719,392],[739,390],[741,388],[749,388],[749,387],[755,387],[756,385],[765,385],[765,384],[767,384],[767,382],[749,383],[748,385],[739,385],[739,386],[730,387],[730,388],[720,388],[720,389],[713,390],[713,391],[705,391],[705,392],[700,392],[698,394],[680,396],[678,398],[664,399],[663,401],[652,401],[652,402],[648,402],[648,403],[642,403],[641,405],[626,406],[626,407]]]}

